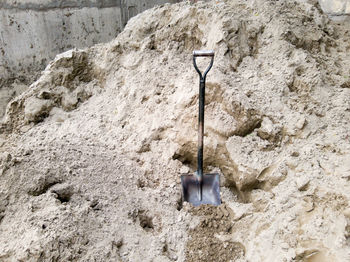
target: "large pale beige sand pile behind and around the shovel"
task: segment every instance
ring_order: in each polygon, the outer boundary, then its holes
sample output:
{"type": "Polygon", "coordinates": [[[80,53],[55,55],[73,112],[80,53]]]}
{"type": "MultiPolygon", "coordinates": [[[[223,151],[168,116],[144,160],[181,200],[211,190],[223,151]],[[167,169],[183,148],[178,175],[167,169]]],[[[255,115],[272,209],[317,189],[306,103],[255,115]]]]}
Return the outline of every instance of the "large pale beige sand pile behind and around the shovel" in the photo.
{"type": "Polygon", "coordinates": [[[0,260],[349,260],[347,27],[309,3],[183,2],[57,56],[1,126],[0,260]],[[181,203],[194,49],[216,52],[204,143],[219,207],[181,203]]]}

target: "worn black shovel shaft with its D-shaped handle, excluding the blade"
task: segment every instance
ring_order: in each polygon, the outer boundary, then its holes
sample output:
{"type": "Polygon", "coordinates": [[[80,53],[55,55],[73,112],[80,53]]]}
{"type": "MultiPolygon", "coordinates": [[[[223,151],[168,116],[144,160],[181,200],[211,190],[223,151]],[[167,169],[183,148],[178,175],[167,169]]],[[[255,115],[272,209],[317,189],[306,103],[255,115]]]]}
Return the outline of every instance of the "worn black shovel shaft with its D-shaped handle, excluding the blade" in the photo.
{"type": "Polygon", "coordinates": [[[207,74],[214,62],[214,51],[194,51],[193,52],[193,65],[199,74],[199,116],[198,116],[198,154],[197,154],[197,177],[200,188],[200,198],[202,192],[202,181],[203,181],[203,137],[204,137],[204,105],[205,105],[205,80],[207,74]],[[205,56],[211,57],[210,64],[202,75],[201,71],[197,67],[196,57],[205,56]]]}

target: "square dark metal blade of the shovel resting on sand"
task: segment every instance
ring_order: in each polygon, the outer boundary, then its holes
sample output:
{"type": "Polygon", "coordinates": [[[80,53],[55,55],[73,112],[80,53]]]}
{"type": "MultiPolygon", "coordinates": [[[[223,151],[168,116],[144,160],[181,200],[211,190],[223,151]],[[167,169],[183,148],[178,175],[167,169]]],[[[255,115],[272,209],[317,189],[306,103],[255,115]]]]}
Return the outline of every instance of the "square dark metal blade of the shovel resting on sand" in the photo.
{"type": "Polygon", "coordinates": [[[220,176],[219,174],[204,174],[202,184],[202,199],[199,199],[199,183],[196,175],[182,175],[182,200],[194,206],[209,204],[218,206],[220,200],[220,176]]]}

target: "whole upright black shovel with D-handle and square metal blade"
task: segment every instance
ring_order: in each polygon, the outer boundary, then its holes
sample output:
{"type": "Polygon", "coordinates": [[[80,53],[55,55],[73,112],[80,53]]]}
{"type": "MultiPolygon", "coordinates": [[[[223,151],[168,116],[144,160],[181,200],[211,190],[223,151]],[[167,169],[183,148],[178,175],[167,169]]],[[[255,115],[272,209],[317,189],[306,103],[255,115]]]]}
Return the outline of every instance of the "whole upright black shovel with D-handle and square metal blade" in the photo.
{"type": "Polygon", "coordinates": [[[205,79],[214,62],[214,51],[194,51],[193,65],[199,74],[199,117],[198,117],[198,170],[194,175],[182,175],[182,199],[194,206],[210,204],[218,206],[220,200],[219,174],[203,174],[203,135],[204,135],[204,103],[205,79]],[[211,61],[204,74],[197,67],[197,57],[210,57],[211,61]]]}

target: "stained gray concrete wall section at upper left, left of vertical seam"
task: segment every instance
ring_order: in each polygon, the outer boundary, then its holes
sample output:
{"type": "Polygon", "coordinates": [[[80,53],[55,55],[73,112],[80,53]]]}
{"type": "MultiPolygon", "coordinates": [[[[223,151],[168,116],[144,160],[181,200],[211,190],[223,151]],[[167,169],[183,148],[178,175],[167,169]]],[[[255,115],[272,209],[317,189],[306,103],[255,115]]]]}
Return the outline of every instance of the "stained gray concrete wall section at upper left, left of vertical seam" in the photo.
{"type": "Polygon", "coordinates": [[[0,77],[43,69],[56,54],[115,37],[122,28],[119,6],[0,11],[0,77]]]}

